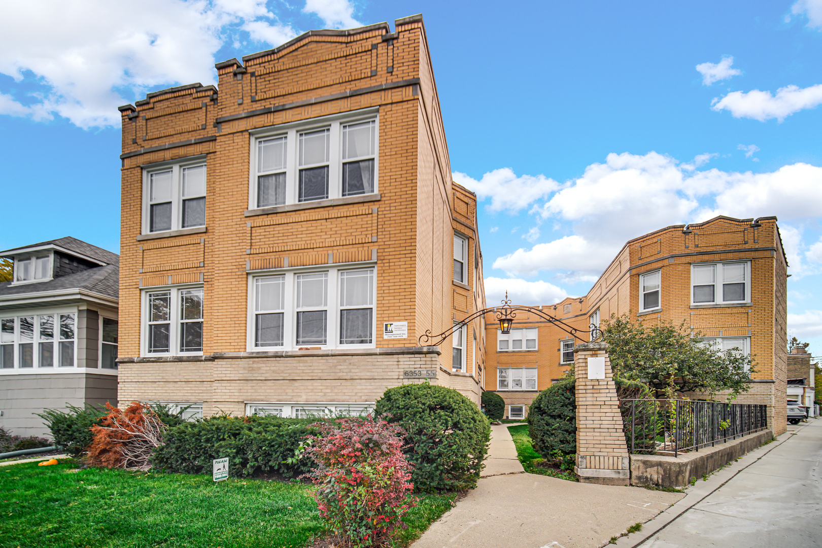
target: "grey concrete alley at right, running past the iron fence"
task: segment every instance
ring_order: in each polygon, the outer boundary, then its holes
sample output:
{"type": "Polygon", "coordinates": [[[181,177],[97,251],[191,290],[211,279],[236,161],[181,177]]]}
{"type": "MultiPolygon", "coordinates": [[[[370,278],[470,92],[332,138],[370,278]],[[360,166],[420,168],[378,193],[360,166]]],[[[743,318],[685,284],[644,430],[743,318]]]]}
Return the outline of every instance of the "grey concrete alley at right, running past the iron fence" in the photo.
{"type": "Polygon", "coordinates": [[[820,465],[822,420],[788,426],[776,442],[698,481],[685,499],[617,546],[822,546],[820,465]]]}

